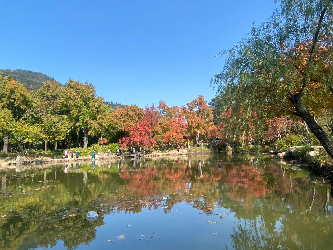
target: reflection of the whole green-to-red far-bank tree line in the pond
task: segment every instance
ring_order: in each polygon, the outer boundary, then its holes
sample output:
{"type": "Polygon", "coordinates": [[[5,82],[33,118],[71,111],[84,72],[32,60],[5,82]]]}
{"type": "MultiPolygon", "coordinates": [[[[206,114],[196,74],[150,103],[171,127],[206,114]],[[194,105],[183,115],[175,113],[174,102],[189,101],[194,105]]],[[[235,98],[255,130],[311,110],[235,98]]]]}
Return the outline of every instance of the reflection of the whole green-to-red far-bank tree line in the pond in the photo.
{"type": "MultiPolygon", "coordinates": [[[[207,212],[218,202],[242,219],[260,216],[263,229],[271,236],[277,220],[283,220],[286,233],[299,235],[295,227],[302,228],[306,216],[318,217],[316,209],[303,217],[289,213],[290,209],[305,211],[311,204],[313,191],[303,171],[293,172],[270,162],[265,169],[255,169],[251,158],[228,161],[231,156],[219,157],[198,157],[191,162],[180,158],[143,159],[135,164],[96,162],[95,169],[86,163],[65,164],[39,171],[0,172],[0,211],[7,215],[0,220],[0,248],[17,249],[24,238],[32,237],[44,247],[64,240],[70,249],[94,239],[95,227],[102,225],[103,215],[110,210],[139,213],[163,206],[168,212],[182,201],[207,212]],[[102,216],[87,222],[84,215],[88,210],[102,216]]],[[[313,207],[323,207],[325,202],[326,190],[317,188],[313,207]]],[[[324,223],[320,218],[322,215],[316,223],[324,223]]]]}

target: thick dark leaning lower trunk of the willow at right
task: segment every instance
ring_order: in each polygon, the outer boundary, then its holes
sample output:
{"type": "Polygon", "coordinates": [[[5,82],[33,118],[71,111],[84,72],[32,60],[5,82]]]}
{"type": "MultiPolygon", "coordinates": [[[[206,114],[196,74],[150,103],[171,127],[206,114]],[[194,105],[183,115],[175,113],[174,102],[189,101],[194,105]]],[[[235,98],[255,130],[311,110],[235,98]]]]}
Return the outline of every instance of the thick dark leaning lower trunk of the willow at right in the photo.
{"type": "Polygon", "coordinates": [[[306,122],[311,132],[316,136],[320,144],[325,148],[326,152],[333,159],[333,143],[328,138],[322,127],[314,120],[309,111],[300,103],[299,96],[293,95],[289,98],[290,102],[294,105],[297,115],[306,122]]]}

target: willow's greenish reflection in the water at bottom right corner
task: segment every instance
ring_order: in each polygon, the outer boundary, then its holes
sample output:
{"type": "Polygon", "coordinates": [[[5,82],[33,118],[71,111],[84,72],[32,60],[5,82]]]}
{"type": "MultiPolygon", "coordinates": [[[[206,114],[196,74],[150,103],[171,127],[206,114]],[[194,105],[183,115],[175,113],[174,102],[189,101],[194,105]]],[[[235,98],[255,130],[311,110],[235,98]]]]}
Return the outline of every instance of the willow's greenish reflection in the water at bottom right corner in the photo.
{"type": "MultiPolygon", "coordinates": [[[[256,212],[252,218],[239,220],[231,232],[232,246],[235,249],[330,249],[333,224],[332,210],[325,216],[319,207],[326,208],[329,196],[328,188],[317,187],[317,196],[326,198],[312,201],[317,209],[302,213],[298,210],[298,201],[285,204],[285,208],[274,207],[269,201],[262,200],[254,206],[256,212]],[[315,204],[314,204],[315,203],[315,204]],[[317,204],[316,204],[317,203],[317,204]],[[292,213],[284,211],[291,207],[292,213]],[[263,211],[268,211],[265,213],[263,211]],[[271,214],[269,214],[271,213],[271,214]],[[318,220],[318,218],[321,218],[318,220]],[[276,221],[281,223],[276,224],[276,221]],[[276,225],[279,225],[277,228],[276,225]]],[[[304,203],[304,201],[303,201],[304,203]]]]}

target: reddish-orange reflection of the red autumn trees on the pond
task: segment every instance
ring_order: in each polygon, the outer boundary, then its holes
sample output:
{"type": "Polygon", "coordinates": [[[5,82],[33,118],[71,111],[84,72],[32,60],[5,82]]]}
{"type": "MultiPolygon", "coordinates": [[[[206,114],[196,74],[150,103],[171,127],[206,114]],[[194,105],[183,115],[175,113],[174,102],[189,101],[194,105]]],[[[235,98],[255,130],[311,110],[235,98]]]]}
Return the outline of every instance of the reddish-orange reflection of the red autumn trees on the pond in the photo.
{"type": "MultiPolygon", "coordinates": [[[[201,172],[184,163],[175,164],[173,168],[164,164],[162,168],[161,165],[159,168],[151,165],[144,169],[122,168],[119,176],[126,180],[124,189],[127,194],[124,196],[138,197],[138,204],[130,203],[140,209],[146,205],[149,209],[156,209],[163,204],[168,207],[166,210],[170,210],[177,202],[186,201],[194,202],[193,206],[198,209],[211,211],[214,202],[220,198],[220,182],[228,187],[227,194],[231,199],[237,202],[243,200],[248,209],[254,199],[262,198],[267,193],[285,194],[299,190],[297,182],[292,181],[289,174],[269,163],[264,169],[256,169],[251,162],[237,165],[229,162],[219,164],[219,167],[201,165],[201,172]],[[264,173],[274,180],[269,186],[264,173]],[[145,199],[145,202],[140,199],[145,199]]],[[[128,206],[128,203],[124,203],[118,208],[126,209],[128,206]]]]}

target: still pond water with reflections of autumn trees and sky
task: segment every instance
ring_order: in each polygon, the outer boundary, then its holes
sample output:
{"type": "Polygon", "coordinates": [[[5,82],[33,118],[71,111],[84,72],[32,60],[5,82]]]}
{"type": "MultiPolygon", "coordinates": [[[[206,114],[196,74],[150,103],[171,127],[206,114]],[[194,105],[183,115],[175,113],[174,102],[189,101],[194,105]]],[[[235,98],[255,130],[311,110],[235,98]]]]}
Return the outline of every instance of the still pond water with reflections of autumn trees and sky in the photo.
{"type": "Polygon", "coordinates": [[[296,163],[264,161],[219,154],[1,170],[0,249],[333,249],[330,186],[296,163]]]}

